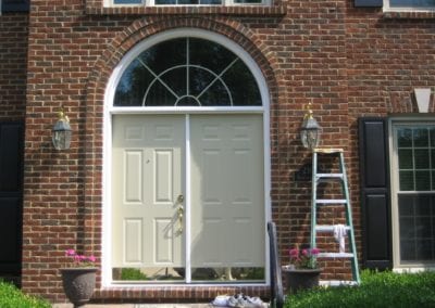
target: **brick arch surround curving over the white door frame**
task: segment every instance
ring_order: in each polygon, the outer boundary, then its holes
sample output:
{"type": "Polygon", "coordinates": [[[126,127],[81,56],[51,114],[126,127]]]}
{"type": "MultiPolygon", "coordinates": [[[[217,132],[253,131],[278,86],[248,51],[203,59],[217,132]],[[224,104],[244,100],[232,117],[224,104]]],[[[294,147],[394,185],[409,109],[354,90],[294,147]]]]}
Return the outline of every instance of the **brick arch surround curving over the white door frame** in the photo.
{"type": "MultiPolygon", "coordinates": [[[[103,105],[104,91],[113,68],[123,56],[141,40],[174,28],[198,28],[223,35],[243,47],[250,56],[257,62],[270,91],[271,117],[274,116],[278,105],[278,98],[285,98],[284,88],[278,87],[277,80],[283,80],[278,76],[279,69],[275,67],[275,53],[269,49],[261,39],[244,25],[232,21],[216,22],[201,17],[150,17],[137,20],[129,27],[120,33],[108,47],[96,63],[89,76],[86,97],[86,149],[85,149],[85,200],[86,207],[90,210],[85,217],[85,236],[87,242],[92,244],[87,246],[89,251],[101,255],[101,226],[102,223],[102,127],[103,127],[103,105]],[[279,93],[279,95],[278,95],[279,93]]],[[[271,130],[271,134],[275,134],[271,130]]],[[[272,139],[271,152],[274,152],[275,141],[272,139]]],[[[99,285],[98,285],[99,286],[99,285]]],[[[104,297],[104,294],[100,294],[104,297]]]]}

